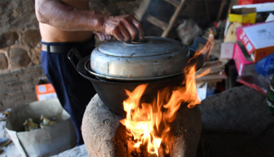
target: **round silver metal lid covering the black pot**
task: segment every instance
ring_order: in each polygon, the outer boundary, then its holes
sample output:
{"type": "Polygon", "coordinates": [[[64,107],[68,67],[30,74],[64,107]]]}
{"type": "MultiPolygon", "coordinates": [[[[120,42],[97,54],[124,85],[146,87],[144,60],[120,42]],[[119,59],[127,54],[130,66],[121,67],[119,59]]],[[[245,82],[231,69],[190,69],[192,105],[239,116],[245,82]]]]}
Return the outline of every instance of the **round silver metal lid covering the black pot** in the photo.
{"type": "Polygon", "coordinates": [[[151,80],[183,72],[190,53],[182,42],[147,36],[141,42],[106,42],[90,55],[90,73],[116,80],[151,80]]]}

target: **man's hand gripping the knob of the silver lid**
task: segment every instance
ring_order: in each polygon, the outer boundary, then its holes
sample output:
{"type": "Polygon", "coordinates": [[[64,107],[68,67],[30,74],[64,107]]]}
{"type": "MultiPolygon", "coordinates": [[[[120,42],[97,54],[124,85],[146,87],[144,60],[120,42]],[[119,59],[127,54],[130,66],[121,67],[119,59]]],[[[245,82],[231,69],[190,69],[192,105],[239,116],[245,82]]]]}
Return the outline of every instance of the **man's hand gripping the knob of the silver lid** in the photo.
{"type": "Polygon", "coordinates": [[[107,16],[104,19],[103,30],[106,34],[115,36],[118,40],[135,40],[137,36],[144,38],[141,23],[132,15],[107,16]]]}

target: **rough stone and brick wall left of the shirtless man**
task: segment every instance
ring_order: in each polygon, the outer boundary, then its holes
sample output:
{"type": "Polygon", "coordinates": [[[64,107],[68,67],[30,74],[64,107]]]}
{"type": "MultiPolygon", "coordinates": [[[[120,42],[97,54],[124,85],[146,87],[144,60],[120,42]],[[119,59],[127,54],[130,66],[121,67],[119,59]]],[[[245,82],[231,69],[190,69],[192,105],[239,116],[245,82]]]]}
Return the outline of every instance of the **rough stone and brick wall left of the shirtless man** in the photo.
{"type": "Polygon", "coordinates": [[[34,1],[0,1],[0,109],[36,101],[35,85],[44,76],[41,36],[34,1]]]}

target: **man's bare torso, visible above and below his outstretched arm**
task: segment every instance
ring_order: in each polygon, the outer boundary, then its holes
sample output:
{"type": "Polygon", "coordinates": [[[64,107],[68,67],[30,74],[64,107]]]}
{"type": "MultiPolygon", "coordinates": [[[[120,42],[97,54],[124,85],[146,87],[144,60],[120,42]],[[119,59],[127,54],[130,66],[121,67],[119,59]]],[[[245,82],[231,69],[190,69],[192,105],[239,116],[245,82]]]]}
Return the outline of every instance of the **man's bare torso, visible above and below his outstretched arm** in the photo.
{"type": "MultiPolygon", "coordinates": [[[[88,10],[88,1],[62,0],[63,2],[78,9],[88,10]]],[[[39,23],[42,39],[45,42],[81,42],[90,39],[92,32],[87,31],[64,31],[53,26],[39,23]]]]}

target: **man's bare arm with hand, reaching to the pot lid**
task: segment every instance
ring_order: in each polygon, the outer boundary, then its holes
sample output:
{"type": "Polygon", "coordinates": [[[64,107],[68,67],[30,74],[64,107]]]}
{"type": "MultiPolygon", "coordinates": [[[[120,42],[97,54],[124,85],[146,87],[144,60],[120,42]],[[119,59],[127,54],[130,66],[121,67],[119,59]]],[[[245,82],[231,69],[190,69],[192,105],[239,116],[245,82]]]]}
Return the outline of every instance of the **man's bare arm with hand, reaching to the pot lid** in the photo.
{"type": "Polygon", "coordinates": [[[35,13],[40,23],[66,31],[97,31],[118,40],[143,38],[140,22],[132,15],[109,16],[97,11],[81,10],[61,0],[35,0],[35,13]]]}

